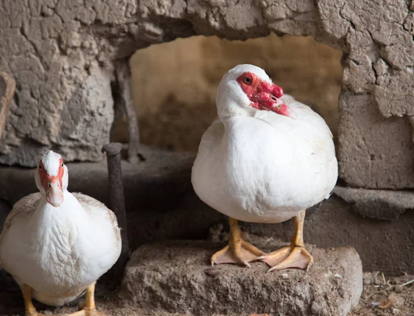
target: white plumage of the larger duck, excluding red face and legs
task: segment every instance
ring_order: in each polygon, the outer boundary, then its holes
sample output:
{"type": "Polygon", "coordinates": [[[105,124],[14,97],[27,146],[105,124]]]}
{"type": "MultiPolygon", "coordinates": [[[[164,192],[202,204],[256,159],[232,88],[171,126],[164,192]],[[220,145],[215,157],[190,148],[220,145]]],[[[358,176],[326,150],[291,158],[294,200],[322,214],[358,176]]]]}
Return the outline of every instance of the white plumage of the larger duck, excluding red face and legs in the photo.
{"type": "Polygon", "coordinates": [[[217,92],[219,117],[206,130],[193,166],[195,192],[220,213],[249,222],[278,223],[326,197],[337,181],[331,131],[311,108],[284,95],[295,119],[256,110],[235,79],[266,72],[239,65],[217,92]]]}

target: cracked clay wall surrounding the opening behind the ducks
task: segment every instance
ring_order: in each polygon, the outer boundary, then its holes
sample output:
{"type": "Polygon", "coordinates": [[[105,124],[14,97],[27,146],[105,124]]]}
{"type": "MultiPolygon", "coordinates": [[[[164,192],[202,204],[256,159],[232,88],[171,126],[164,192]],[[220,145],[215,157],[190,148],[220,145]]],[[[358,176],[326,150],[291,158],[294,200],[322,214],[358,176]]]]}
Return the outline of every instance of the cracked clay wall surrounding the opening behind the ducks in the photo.
{"type": "MultiPolygon", "coordinates": [[[[3,0],[0,70],[17,82],[0,163],[35,166],[45,148],[101,159],[114,118],[115,61],[193,34],[312,35],[342,50],[340,177],[414,187],[414,14],[407,0],[3,0]],[[28,4],[28,6],[26,6],[28,4]]],[[[168,75],[168,74],[167,74],[168,75]]]]}

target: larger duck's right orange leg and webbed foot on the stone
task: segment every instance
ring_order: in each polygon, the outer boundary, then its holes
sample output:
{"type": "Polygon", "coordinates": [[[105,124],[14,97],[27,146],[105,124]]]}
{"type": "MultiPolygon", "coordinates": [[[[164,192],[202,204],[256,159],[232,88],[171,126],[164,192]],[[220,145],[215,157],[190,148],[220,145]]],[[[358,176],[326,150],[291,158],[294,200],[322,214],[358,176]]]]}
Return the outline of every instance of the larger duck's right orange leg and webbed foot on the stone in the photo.
{"type": "Polygon", "coordinates": [[[306,210],[303,210],[295,217],[296,233],[292,244],[269,253],[262,259],[271,267],[268,272],[286,268],[301,268],[308,271],[311,268],[313,257],[305,249],[303,237],[305,214],[306,210]]]}

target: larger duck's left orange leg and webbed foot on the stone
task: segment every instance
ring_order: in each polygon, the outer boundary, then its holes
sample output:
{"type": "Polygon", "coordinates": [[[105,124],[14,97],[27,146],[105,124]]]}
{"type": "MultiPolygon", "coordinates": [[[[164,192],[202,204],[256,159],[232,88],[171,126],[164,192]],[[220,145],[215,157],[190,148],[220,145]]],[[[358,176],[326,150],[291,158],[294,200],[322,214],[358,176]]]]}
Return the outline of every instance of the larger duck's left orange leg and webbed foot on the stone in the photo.
{"type": "Polygon", "coordinates": [[[264,252],[242,239],[237,219],[228,217],[228,220],[230,223],[228,245],[211,257],[211,264],[242,264],[250,267],[248,263],[262,259],[264,252]]]}

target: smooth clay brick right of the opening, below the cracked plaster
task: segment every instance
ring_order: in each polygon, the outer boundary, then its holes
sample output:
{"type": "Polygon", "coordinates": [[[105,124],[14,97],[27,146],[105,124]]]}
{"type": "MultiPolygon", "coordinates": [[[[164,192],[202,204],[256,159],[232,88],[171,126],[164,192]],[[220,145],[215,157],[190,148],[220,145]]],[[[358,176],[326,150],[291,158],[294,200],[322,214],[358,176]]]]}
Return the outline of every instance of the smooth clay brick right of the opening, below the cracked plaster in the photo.
{"type": "Polygon", "coordinates": [[[339,101],[339,177],[358,188],[414,187],[408,117],[381,115],[372,95],[343,92],[339,101]]]}

